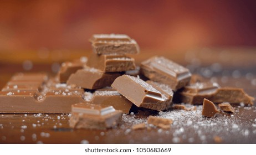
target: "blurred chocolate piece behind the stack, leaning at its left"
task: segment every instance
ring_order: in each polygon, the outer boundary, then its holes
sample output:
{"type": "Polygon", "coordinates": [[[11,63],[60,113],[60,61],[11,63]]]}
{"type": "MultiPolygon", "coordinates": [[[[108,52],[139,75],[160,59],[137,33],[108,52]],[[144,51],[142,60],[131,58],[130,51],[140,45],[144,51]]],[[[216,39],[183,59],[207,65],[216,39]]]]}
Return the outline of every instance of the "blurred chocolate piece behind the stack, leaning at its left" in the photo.
{"type": "Polygon", "coordinates": [[[79,60],[62,63],[62,66],[57,74],[59,82],[65,83],[71,74],[75,73],[79,69],[83,69],[86,62],[87,58],[81,57],[79,60]]]}

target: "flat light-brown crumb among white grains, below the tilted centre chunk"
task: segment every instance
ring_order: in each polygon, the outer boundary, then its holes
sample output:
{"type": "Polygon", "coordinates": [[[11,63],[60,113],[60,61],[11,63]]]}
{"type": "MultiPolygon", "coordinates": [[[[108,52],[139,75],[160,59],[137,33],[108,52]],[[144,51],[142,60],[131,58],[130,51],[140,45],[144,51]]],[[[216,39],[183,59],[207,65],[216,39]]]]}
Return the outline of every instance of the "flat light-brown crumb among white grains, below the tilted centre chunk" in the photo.
{"type": "Polygon", "coordinates": [[[173,123],[173,121],[171,119],[149,116],[147,123],[161,127],[163,129],[167,129],[170,128],[170,125],[173,123]]]}

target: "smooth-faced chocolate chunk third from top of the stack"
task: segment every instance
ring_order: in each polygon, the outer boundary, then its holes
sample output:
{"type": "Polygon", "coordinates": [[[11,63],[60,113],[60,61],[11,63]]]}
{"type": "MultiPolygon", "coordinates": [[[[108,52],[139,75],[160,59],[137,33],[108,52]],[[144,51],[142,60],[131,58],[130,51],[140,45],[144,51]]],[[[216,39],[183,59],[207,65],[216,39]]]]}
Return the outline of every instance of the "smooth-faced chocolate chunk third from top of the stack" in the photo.
{"type": "Polygon", "coordinates": [[[102,73],[98,69],[85,67],[71,74],[68,85],[75,85],[85,89],[99,89],[110,86],[120,73],[102,73]]]}

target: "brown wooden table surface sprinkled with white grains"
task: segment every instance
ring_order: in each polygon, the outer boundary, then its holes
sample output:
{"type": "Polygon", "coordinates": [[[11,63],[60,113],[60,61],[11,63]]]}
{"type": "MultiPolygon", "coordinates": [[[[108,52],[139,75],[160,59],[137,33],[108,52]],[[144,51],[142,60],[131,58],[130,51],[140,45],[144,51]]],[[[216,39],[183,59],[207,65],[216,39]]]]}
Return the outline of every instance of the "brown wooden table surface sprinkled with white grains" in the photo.
{"type": "MultiPolygon", "coordinates": [[[[32,70],[54,75],[54,66],[62,61],[88,56],[89,51],[52,51],[40,56],[37,51],[0,53],[0,87],[16,72],[24,72],[23,61],[33,63],[32,70]],[[54,64],[54,65],[53,65],[54,64]],[[52,70],[53,69],[53,70],[52,70]]],[[[142,50],[131,55],[139,64],[153,55],[163,55],[201,74],[221,86],[241,87],[256,97],[256,53],[254,48],[203,48],[187,51],[142,50]]],[[[1,102],[1,101],[0,101],[1,102]]],[[[76,130],[69,128],[69,115],[0,113],[0,143],[256,143],[255,106],[236,105],[233,115],[205,118],[202,106],[197,111],[169,110],[152,112],[139,110],[123,115],[122,123],[109,130],[76,130]],[[169,130],[131,130],[135,123],[145,122],[149,115],[172,118],[169,130]],[[84,140],[84,141],[83,141],[84,140]]]]}

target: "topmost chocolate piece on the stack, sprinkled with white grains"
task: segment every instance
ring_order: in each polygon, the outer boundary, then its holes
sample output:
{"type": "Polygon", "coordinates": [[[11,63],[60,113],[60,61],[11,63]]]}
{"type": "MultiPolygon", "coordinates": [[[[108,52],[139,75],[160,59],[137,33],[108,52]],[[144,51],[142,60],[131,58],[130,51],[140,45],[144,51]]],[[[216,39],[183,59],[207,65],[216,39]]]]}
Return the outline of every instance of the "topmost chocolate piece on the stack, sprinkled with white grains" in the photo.
{"type": "Polygon", "coordinates": [[[96,54],[138,54],[139,45],[124,34],[95,34],[89,39],[96,54]]]}

